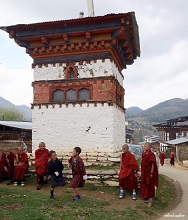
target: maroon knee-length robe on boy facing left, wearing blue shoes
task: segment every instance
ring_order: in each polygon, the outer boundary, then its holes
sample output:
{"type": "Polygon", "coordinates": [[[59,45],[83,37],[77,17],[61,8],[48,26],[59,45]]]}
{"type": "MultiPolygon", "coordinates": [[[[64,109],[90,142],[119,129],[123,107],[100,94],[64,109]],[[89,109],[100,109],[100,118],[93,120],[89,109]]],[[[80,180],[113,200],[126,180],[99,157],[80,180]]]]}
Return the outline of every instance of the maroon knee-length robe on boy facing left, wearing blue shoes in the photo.
{"type": "Polygon", "coordinates": [[[71,157],[69,159],[69,164],[72,168],[73,179],[71,181],[71,188],[83,187],[85,185],[85,180],[83,180],[83,176],[86,175],[86,170],[84,166],[84,162],[81,157],[71,157]]]}

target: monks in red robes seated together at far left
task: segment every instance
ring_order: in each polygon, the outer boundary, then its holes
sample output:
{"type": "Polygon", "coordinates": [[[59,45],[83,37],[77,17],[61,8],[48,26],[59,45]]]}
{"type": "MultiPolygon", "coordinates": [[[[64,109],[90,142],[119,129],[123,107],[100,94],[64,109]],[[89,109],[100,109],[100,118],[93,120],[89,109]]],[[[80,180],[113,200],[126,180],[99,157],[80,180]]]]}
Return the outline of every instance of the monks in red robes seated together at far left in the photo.
{"type": "Polygon", "coordinates": [[[8,149],[4,149],[0,158],[0,182],[8,179],[7,185],[18,183],[25,185],[24,176],[29,168],[28,156],[25,150],[20,147],[16,154],[8,149]]]}

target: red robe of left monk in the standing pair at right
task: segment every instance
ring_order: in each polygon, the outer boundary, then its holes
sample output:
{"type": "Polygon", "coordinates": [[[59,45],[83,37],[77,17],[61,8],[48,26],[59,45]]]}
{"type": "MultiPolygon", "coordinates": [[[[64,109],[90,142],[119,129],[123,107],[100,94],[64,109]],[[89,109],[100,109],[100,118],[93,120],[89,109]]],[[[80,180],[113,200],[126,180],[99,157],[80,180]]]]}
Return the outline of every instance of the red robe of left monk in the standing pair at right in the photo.
{"type": "Polygon", "coordinates": [[[123,189],[133,190],[137,188],[137,179],[134,170],[139,170],[139,165],[135,157],[129,151],[127,153],[122,153],[119,185],[123,189]]]}

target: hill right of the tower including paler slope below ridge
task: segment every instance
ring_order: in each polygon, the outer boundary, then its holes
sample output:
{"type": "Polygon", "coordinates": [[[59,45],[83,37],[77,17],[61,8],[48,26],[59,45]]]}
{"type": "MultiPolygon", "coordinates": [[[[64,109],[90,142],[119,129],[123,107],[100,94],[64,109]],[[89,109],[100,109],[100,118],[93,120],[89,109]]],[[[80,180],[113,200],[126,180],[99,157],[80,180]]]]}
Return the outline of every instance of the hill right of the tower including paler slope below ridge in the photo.
{"type": "Polygon", "coordinates": [[[135,129],[133,143],[136,144],[143,141],[143,136],[158,134],[152,124],[187,115],[188,99],[180,98],[161,102],[146,110],[138,107],[126,109],[126,121],[128,121],[129,128],[135,129]]]}

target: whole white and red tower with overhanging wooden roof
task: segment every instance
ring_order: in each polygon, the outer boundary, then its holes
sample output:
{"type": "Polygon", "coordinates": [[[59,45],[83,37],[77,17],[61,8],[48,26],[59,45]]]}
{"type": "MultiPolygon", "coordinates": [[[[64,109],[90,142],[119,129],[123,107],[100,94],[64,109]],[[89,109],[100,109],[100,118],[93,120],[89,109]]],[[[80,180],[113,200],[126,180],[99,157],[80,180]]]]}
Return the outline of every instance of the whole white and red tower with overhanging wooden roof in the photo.
{"type": "Polygon", "coordinates": [[[140,55],[134,13],[4,27],[33,58],[33,151],[80,146],[113,153],[125,142],[122,70],[140,55]]]}

